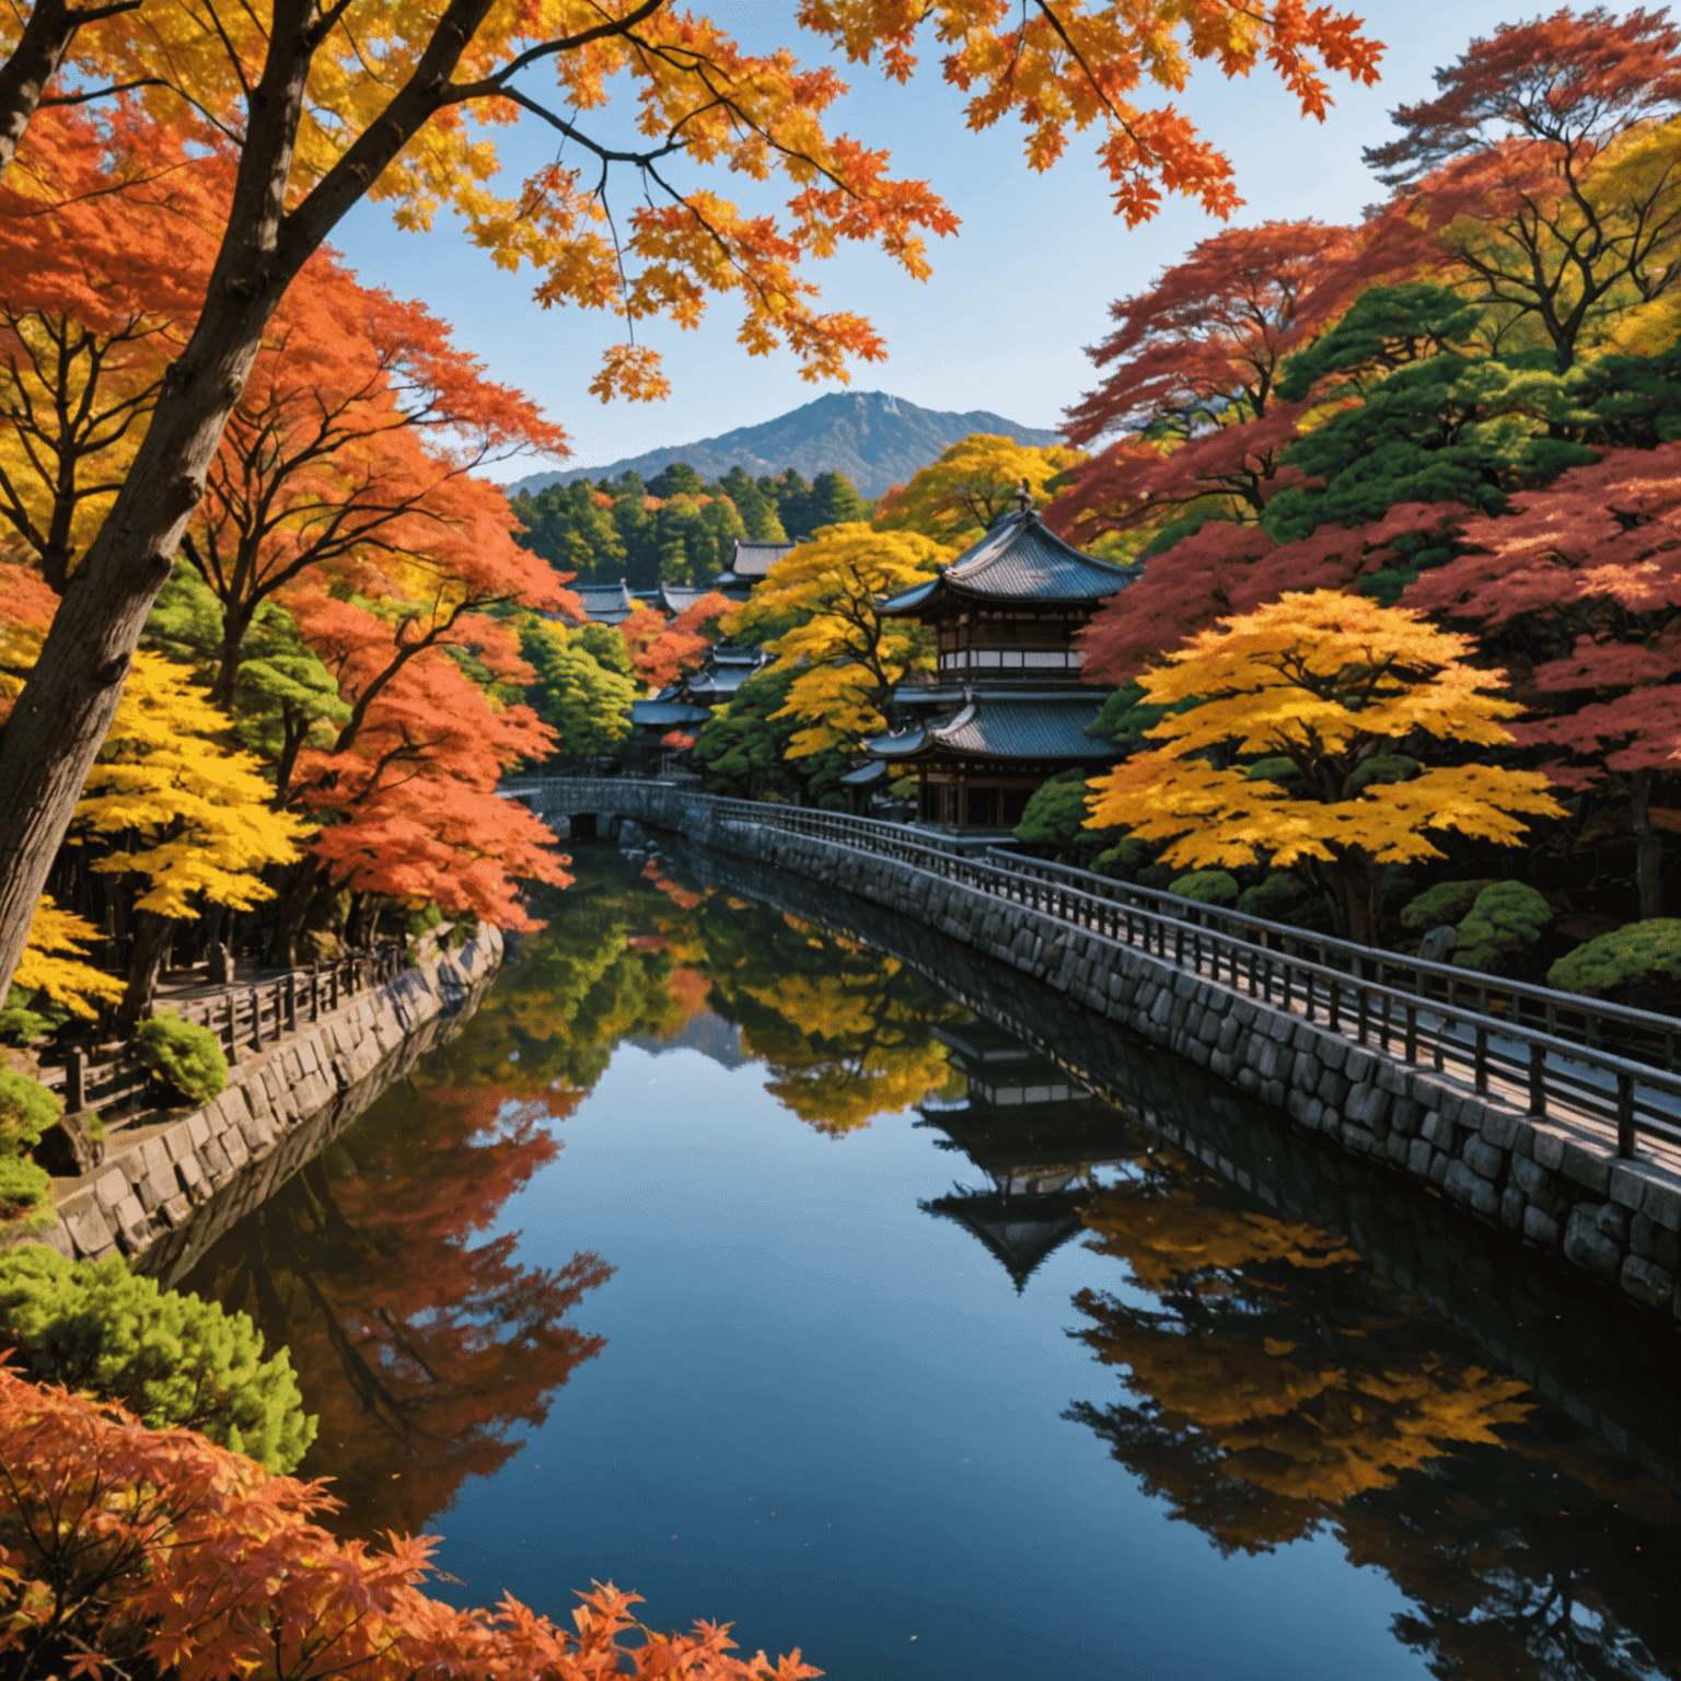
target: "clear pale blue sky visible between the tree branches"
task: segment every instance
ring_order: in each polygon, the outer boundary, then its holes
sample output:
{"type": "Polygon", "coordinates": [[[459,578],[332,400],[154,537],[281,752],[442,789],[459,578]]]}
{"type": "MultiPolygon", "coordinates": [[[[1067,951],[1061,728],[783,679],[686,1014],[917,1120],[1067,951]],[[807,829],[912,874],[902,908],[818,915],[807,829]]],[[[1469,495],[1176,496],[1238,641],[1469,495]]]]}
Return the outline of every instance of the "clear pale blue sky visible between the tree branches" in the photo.
{"type": "MultiPolygon", "coordinates": [[[[1432,67],[1457,57],[1473,35],[1540,8],[1540,0],[1368,7],[1370,30],[1389,47],[1383,81],[1370,89],[1338,84],[1323,124],[1304,121],[1261,71],[1247,82],[1210,72],[1192,82],[1180,104],[1237,168],[1246,200],[1237,222],[1355,220],[1362,205],[1380,197],[1360,151],[1387,138],[1389,111],[1427,96],[1432,67]]],[[[817,57],[810,37],[790,22],[792,0],[723,0],[708,10],[750,45],[785,40],[817,57]]],[[[1108,304],[1146,286],[1217,224],[1194,205],[1170,202],[1155,222],[1128,230],[1111,213],[1088,143],[1076,138],[1057,168],[1035,175],[1022,161],[1022,131],[1000,124],[987,134],[968,133],[962,96],[926,61],[909,87],[888,86],[866,67],[846,76],[852,92],[834,126],[889,146],[898,173],[933,182],[963,220],[955,237],[935,242],[935,274],[923,284],[864,247],[814,266],[827,306],[867,314],[888,340],[889,360],[857,365],[852,388],[893,392],[928,408],[990,408],[1024,425],[1057,425],[1091,385],[1083,346],[1103,336],[1108,304]]],[[[536,119],[498,134],[511,171],[553,156],[553,134],[536,119]]],[[[723,180],[716,185],[726,190],[723,180]]],[[[620,202],[630,200],[624,180],[620,202]]],[[[738,318],[725,299],[696,331],[652,326],[642,335],[666,356],[671,398],[602,405],[587,387],[602,348],[622,336],[615,319],[538,308],[530,271],[494,269],[442,219],[429,234],[402,234],[378,205],[365,203],[338,244],[363,279],[424,298],[498,378],[541,402],[572,434],[577,466],[768,420],[832,388],[802,382],[790,356],[741,351],[738,318]]]]}

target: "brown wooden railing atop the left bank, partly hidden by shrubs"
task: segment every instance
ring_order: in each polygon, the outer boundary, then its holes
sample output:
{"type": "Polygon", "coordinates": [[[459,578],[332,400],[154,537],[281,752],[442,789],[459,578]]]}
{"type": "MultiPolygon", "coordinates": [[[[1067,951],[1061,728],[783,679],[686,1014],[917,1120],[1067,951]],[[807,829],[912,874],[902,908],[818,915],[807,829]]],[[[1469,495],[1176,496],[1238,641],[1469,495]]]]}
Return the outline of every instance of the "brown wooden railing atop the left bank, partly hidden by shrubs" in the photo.
{"type": "MultiPolygon", "coordinates": [[[[202,999],[165,999],[156,1014],[182,1015],[208,1027],[222,1042],[229,1062],[239,1062],[296,1030],[299,1022],[316,1022],[341,1002],[368,987],[382,985],[403,967],[402,945],[353,951],[331,963],[294,968],[262,982],[225,987],[202,999]]],[[[129,1049],[97,1061],[72,1046],[59,1067],[42,1071],[42,1083],[64,1099],[64,1113],[76,1116],[99,1111],[108,1130],[131,1125],[153,1108],[153,1079],[129,1049]]]]}

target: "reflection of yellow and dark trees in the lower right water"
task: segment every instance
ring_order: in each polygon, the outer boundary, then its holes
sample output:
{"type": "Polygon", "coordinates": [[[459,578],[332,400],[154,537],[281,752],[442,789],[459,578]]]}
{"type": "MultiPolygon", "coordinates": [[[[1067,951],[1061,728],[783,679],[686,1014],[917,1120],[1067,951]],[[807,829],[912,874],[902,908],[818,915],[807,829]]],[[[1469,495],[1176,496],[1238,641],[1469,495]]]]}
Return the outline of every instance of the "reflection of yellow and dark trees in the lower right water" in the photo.
{"type": "Polygon", "coordinates": [[[1663,1673],[1651,1652],[1681,1632],[1668,1488],[1452,1352],[1345,1242],[1172,1150],[1084,1219],[1130,1288],[1079,1291],[1071,1335],[1130,1399],[1067,1417],[1175,1518],[1227,1553],[1335,1535],[1407,1595],[1397,1634],[1436,1676],[1663,1673]]]}

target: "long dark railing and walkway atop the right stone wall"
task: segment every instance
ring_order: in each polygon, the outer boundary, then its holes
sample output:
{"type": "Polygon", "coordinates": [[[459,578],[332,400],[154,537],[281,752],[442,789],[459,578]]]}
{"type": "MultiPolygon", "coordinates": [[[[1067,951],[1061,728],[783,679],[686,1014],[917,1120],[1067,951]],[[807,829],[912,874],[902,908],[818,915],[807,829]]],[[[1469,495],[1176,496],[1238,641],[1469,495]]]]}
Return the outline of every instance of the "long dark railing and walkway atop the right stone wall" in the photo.
{"type": "MultiPolygon", "coordinates": [[[[630,778],[577,778],[609,809],[630,778]]],[[[652,783],[652,787],[662,787],[652,783]]],[[[871,817],[681,793],[719,817],[852,847],[1022,904],[1219,982],[1397,1061],[1461,1078],[1525,1113],[1589,1123],[1632,1157],[1681,1145],[1681,1020],[1271,923],[999,847],[871,817]]]]}

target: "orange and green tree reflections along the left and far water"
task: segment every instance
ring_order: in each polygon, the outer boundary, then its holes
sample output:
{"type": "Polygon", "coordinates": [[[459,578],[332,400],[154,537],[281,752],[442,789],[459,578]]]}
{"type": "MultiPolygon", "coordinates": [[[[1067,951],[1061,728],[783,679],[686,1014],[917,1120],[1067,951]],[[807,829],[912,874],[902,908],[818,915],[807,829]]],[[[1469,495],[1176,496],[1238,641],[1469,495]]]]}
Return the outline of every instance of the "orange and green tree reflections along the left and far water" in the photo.
{"type": "Polygon", "coordinates": [[[602,1338],[572,1309],[612,1267],[521,1266],[486,1239],[625,1039],[708,1007],[802,1120],[844,1133],[946,1079],[935,1022],[967,1012],[893,958],[651,867],[585,859],[577,889],[447,1046],[180,1281],[291,1348],[355,1535],[417,1533],[514,1452],[602,1338]]]}

